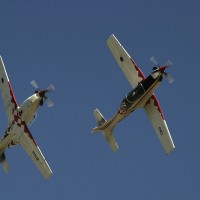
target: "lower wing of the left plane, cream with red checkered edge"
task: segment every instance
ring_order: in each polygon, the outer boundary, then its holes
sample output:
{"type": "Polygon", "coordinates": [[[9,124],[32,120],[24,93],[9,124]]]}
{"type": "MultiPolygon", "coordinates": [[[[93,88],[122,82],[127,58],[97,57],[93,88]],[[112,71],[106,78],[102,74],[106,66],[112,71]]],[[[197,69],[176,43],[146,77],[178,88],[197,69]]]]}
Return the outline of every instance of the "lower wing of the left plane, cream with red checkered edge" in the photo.
{"type": "Polygon", "coordinates": [[[52,171],[45,160],[40,148],[38,147],[36,141],[34,140],[31,132],[29,131],[26,123],[20,118],[17,119],[15,125],[15,133],[18,138],[19,143],[25,149],[27,154],[31,157],[35,165],[41,171],[45,178],[52,175],[52,171]]]}

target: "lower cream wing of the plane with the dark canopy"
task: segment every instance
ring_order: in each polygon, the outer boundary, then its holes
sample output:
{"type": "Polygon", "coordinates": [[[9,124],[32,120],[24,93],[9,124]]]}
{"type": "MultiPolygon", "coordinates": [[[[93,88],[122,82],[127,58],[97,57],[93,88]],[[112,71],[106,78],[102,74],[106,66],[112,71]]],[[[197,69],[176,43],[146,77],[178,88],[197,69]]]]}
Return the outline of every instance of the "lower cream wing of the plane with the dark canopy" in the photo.
{"type": "Polygon", "coordinates": [[[164,119],[159,102],[155,95],[153,95],[146,103],[144,107],[156,134],[167,154],[169,154],[174,148],[174,143],[170,135],[167,123],[164,119]]]}

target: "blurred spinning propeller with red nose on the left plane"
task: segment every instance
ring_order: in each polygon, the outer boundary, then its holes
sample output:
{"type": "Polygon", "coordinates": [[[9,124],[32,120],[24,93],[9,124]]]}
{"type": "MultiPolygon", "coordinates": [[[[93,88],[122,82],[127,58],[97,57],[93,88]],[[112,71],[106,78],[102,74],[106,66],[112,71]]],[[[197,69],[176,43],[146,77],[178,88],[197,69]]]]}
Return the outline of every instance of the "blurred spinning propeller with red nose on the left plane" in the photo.
{"type": "Polygon", "coordinates": [[[55,87],[50,84],[47,89],[45,90],[40,90],[39,87],[38,87],[38,84],[36,83],[36,81],[31,81],[30,84],[35,88],[37,89],[36,90],[36,93],[38,93],[41,97],[42,97],[42,102],[41,102],[41,105],[43,104],[43,101],[47,104],[48,107],[52,107],[54,105],[53,101],[51,99],[49,99],[47,96],[46,96],[46,93],[48,92],[52,92],[55,90],[55,87]]]}

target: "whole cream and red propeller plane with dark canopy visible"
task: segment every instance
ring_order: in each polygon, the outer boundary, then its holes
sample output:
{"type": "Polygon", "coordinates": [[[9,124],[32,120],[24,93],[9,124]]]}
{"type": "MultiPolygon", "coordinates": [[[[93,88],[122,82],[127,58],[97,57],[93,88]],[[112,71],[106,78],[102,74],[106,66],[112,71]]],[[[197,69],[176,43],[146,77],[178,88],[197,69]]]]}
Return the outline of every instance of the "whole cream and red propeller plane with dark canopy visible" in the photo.
{"type": "Polygon", "coordinates": [[[93,114],[98,126],[93,128],[92,132],[102,132],[112,150],[116,152],[119,147],[113,129],[132,112],[138,108],[144,108],[166,154],[170,154],[175,149],[175,145],[154,91],[164,77],[168,78],[170,83],[173,82],[173,77],[165,71],[172,63],[169,61],[166,65],[159,66],[152,57],[151,60],[156,66],[153,72],[145,78],[114,34],[108,38],[107,45],[133,89],[123,99],[117,113],[110,120],[107,121],[98,109],[94,110],[93,114]]]}

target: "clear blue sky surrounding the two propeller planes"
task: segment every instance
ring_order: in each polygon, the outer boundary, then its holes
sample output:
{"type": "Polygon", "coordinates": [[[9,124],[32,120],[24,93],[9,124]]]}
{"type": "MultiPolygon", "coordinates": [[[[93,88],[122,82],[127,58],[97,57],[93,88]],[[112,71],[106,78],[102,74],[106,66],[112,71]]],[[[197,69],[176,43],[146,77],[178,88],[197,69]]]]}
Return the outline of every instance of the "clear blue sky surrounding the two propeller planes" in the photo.
{"type": "MultiPolygon", "coordinates": [[[[0,199],[200,199],[200,2],[198,0],[1,1],[0,54],[21,104],[53,83],[55,106],[41,107],[30,127],[54,174],[45,180],[22,147],[8,149],[0,166],[0,199]],[[115,128],[113,153],[96,126],[131,86],[110,53],[114,33],[145,75],[154,56],[170,59],[156,91],[176,149],[167,156],[143,110],[115,128]]],[[[0,129],[7,118],[0,101],[0,129]]]]}

